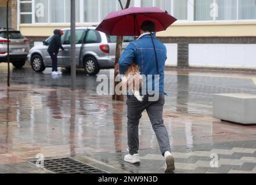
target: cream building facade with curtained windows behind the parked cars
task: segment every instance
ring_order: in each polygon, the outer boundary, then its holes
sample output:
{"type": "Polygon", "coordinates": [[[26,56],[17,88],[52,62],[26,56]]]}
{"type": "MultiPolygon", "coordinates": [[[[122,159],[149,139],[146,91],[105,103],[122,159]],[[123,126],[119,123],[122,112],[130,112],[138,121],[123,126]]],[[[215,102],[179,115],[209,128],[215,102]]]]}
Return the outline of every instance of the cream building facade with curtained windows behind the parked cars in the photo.
{"type": "MultiPolygon", "coordinates": [[[[6,1],[0,0],[0,6],[1,2],[6,1]]],[[[125,5],[126,0],[121,2],[125,5]]],[[[16,3],[12,20],[17,22],[12,24],[31,41],[70,26],[70,0],[16,3]]],[[[131,6],[157,6],[178,19],[157,33],[167,46],[168,65],[256,68],[255,0],[131,0],[131,6]]],[[[120,9],[117,0],[76,0],[77,26],[99,24],[120,9]]]]}

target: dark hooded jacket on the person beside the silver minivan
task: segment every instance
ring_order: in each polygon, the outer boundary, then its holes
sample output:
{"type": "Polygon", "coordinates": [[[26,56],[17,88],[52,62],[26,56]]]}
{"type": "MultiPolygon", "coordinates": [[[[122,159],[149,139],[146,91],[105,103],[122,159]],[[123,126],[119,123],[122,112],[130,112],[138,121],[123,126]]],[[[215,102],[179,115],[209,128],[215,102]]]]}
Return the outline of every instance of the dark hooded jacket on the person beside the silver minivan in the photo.
{"type": "Polygon", "coordinates": [[[57,54],[59,52],[59,49],[64,50],[64,48],[62,47],[62,41],[60,39],[61,35],[60,35],[60,29],[55,29],[55,31],[53,31],[53,36],[51,39],[51,42],[49,43],[49,47],[48,47],[48,53],[55,53],[57,54]]]}

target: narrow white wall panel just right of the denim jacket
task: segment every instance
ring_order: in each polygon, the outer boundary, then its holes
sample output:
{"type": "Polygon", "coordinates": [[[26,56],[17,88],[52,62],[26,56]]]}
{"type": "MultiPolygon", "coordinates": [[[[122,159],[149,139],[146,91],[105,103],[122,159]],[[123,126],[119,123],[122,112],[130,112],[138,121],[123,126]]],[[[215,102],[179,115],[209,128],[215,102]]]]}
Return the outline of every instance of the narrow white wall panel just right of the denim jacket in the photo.
{"type": "Polygon", "coordinates": [[[164,44],[167,49],[167,60],[165,65],[177,65],[178,63],[178,44],[164,44]]]}

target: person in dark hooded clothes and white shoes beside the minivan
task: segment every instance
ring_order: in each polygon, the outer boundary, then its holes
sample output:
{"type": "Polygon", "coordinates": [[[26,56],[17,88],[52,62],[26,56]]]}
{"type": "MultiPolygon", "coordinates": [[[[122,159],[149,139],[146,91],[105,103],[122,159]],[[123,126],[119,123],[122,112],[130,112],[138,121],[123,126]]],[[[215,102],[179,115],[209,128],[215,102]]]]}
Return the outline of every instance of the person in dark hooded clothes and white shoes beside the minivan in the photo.
{"type": "Polygon", "coordinates": [[[57,55],[59,53],[59,49],[64,51],[64,48],[62,47],[62,41],[60,39],[63,35],[63,31],[60,29],[55,29],[53,34],[54,35],[52,36],[47,50],[52,58],[52,75],[62,75],[62,72],[57,71],[57,55]]]}

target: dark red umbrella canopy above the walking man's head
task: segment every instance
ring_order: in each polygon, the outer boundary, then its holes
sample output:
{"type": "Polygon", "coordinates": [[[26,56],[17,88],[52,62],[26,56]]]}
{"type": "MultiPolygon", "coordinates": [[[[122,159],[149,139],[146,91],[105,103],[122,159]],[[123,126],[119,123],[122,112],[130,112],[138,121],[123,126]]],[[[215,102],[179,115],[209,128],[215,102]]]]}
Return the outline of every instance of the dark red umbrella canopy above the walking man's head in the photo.
{"type": "Polygon", "coordinates": [[[156,7],[132,7],[109,13],[96,30],[109,35],[138,36],[140,25],[146,20],[154,22],[156,31],[164,31],[176,21],[176,18],[156,7]]]}

